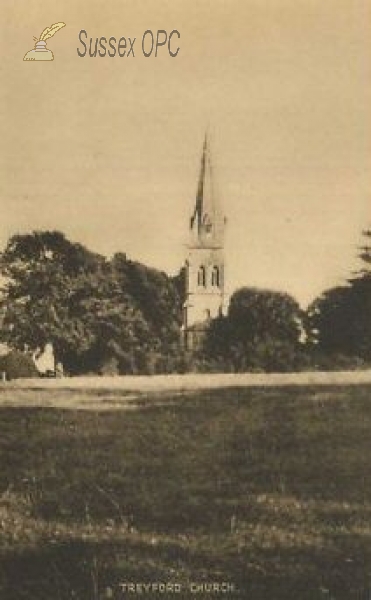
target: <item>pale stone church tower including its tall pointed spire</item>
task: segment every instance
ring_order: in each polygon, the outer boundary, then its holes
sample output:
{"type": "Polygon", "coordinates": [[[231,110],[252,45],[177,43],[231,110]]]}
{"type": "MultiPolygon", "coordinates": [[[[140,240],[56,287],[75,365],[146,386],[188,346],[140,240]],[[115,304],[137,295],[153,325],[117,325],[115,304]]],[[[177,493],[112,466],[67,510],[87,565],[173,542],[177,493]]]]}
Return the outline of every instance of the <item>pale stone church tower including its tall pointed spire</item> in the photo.
{"type": "Polygon", "coordinates": [[[226,219],[215,190],[209,146],[205,136],[185,263],[183,331],[189,350],[199,347],[210,319],[223,313],[225,303],[226,219]]]}

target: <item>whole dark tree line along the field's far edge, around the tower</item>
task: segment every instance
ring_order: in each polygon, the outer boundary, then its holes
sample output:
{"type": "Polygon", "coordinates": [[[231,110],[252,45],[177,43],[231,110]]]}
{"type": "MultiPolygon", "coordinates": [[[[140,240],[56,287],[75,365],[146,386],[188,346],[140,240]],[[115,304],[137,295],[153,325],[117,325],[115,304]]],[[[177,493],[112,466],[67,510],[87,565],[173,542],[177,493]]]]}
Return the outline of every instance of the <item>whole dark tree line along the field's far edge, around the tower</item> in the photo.
{"type": "Polygon", "coordinates": [[[61,232],[10,238],[0,256],[0,341],[22,352],[52,343],[67,373],[291,371],[371,363],[371,231],[362,268],[302,310],[289,294],[244,287],[189,353],[181,323],[184,271],[170,277],[111,259],[61,232]]]}

